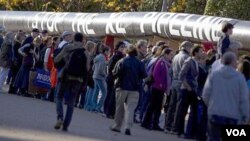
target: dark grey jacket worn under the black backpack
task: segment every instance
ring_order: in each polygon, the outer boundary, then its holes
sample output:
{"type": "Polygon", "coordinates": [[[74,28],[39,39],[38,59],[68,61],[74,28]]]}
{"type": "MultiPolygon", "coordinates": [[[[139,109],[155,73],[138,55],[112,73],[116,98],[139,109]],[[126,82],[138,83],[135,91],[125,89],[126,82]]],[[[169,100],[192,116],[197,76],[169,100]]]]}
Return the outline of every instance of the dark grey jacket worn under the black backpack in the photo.
{"type": "MultiPolygon", "coordinates": [[[[68,59],[68,56],[69,56],[70,52],[73,51],[73,50],[75,50],[75,49],[79,49],[79,48],[83,48],[83,44],[80,43],[80,42],[74,42],[72,44],[68,44],[54,58],[54,62],[58,63],[61,60],[64,60],[66,62],[66,60],[68,59]]],[[[85,55],[86,55],[86,59],[87,59],[86,68],[88,70],[89,69],[89,54],[87,53],[86,50],[85,50],[85,55]]],[[[65,78],[67,80],[75,80],[75,81],[79,81],[81,83],[85,81],[85,80],[83,80],[82,78],[79,78],[79,77],[74,77],[74,76],[70,76],[70,75],[64,76],[64,68],[62,68],[62,70],[58,72],[58,78],[59,79],[65,78]]]]}

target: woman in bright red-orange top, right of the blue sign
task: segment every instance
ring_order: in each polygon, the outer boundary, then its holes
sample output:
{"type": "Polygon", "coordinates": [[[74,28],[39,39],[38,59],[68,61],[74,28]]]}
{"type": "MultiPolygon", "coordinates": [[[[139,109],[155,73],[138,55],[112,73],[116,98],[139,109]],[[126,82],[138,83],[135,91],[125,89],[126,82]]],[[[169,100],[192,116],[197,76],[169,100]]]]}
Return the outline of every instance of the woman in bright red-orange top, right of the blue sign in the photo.
{"type": "Polygon", "coordinates": [[[58,47],[60,43],[59,37],[53,37],[52,39],[52,45],[51,48],[48,48],[45,53],[44,58],[44,66],[47,66],[47,69],[50,70],[50,82],[51,82],[51,88],[48,93],[48,100],[53,102],[54,101],[54,92],[55,87],[57,84],[57,69],[55,68],[54,61],[53,61],[53,53],[54,50],[58,47]]]}

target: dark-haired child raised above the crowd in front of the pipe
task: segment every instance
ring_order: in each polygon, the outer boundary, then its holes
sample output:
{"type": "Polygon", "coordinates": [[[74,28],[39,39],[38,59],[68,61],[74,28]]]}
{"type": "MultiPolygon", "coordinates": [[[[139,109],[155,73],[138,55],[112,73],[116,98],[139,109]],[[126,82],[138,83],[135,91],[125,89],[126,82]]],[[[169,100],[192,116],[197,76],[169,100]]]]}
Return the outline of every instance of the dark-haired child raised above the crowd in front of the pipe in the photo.
{"type": "Polygon", "coordinates": [[[217,44],[217,53],[220,56],[222,56],[226,50],[229,48],[229,45],[231,43],[230,41],[230,35],[233,34],[233,24],[229,22],[225,22],[222,25],[222,36],[220,37],[218,44],[217,44]]]}

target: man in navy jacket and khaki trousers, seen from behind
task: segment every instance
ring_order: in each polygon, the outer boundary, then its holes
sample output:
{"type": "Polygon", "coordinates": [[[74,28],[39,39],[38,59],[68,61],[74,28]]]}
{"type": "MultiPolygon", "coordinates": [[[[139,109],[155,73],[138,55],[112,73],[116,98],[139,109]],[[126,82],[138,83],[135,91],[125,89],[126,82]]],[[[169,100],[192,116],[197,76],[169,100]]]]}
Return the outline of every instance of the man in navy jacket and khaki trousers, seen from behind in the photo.
{"type": "Polygon", "coordinates": [[[124,120],[126,135],[131,135],[133,113],[139,100],[138,88],[142,79],[147,76],[144,64],[136,56],[136,48],[130,45],[127,48],[127,57],[120,60],[113,70],[116,78],[116,112],[115,124],[110,129],[120,132],[124,120]]]}

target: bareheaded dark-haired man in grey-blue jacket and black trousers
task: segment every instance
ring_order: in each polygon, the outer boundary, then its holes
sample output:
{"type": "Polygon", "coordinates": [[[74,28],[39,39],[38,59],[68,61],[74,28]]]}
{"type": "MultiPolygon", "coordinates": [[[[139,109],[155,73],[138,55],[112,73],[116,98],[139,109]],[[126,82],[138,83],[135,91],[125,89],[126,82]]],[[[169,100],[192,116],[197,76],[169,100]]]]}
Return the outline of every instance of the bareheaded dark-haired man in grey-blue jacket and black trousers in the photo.
{"type": "Polygon", "coordinates": [[[203,50],[200,46],[196,45],[192,51],[192,57],[188,58],[184,65],[181,68],[179,79],[181,81],[181,96],[180,101],[178,102],[177,113],[176,113],[176,128],[177,135],[181,136],[184,134],[184,123],[185,116],[188,111],[188,107],[191,106],[191,112],[193,115],[190,117],[193,118],[192,127],[194,128],[192,133],[186,135],[186,138],[192,138],[195,136],[195,123],[197,117],[197,90],[198,90],[198,74],[199,66],[198,61],[202,57],[203,50]]]}

